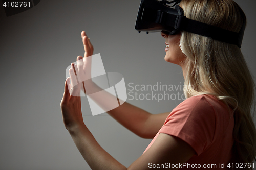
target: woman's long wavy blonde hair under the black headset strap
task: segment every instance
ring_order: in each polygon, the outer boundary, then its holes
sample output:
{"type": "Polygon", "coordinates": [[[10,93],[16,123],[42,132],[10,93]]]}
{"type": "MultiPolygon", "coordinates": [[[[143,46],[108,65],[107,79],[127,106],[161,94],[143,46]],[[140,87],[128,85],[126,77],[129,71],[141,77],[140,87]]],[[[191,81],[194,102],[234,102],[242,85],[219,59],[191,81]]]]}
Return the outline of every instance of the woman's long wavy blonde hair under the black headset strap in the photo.
{"type": "MultiPolygon", "coordinates": [[[[182,0],[187,18],[239,32],[246,17],[232,0],[182,0]]],[[[237,45],[183,31],[180,48],[187,57],[184,93],[211,94],[233,109],[233,162],[252,163],[256,155],[254,114],[255,85],[237,45]]],[[[247,168],[252,169],[252,168],[247,168]]]]}

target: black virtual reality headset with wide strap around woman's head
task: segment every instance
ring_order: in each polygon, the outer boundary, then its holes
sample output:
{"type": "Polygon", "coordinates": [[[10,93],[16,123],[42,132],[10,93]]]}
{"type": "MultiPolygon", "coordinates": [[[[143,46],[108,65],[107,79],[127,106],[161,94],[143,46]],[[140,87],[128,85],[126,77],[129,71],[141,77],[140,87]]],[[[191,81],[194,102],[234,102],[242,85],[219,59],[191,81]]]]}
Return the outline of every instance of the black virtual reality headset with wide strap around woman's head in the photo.
{"type": "Polygon", "coordinates": [[[136,20],[135,29],[139,31],[160,32],[163,31],[169,35],[178,34],[180,31],[187,31],[214,40],[235,44],[241,48],[245,22],[239,33],[225,30],[216,26],[208,25],[203,22],[188,19],[184,16],[183,9],[176,5],[171,8],[167,4],[180,1],[157,1],[157,0],[141,0],[139,12],[136,20]]]}

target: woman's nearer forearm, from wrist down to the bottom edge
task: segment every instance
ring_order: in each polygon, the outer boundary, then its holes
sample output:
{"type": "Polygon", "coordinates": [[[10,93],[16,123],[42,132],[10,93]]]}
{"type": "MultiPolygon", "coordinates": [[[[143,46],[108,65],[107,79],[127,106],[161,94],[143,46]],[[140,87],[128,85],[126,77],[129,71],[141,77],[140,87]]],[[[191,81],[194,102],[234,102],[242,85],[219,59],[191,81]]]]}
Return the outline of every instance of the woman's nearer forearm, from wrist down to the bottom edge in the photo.
{"type": "Polygon", "coordinates": [[[69,133],[75,142],[77,149],[92,170],[127,169],[100,147],[85,125],[73,129],[71,128],[69,133]]]}

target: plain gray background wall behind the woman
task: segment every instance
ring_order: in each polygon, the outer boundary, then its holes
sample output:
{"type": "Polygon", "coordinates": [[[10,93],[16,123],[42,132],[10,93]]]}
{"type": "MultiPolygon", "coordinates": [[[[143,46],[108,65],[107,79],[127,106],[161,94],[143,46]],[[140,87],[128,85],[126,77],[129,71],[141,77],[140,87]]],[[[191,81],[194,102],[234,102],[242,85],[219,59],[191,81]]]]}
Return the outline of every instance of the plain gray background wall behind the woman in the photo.
{"type": "MultiPolygon", "coordinates": [[[[236,2],[248,18],[242,51],[256,76],[256,1],[236,2]]],[[[165,40],[160,33],[139,34],[134,29],[139,3],[45,0],[10,17],[0,7],[0,169],[90,169],[62,123],[59,106],[65,69],[84,53],[83,30],[94,54],[101,54],[106,72],[121,73],[127,89],[131,82],[183,84],[181,68],[164,60],[165,40]]],[[[181,100],[127,102],[161,113],[172,111],[181,100]]],[[[82,103],[84,122],[123,165],[129,166],[150,143],[108,115],[91,116],[87,99],[82,103]]]]}

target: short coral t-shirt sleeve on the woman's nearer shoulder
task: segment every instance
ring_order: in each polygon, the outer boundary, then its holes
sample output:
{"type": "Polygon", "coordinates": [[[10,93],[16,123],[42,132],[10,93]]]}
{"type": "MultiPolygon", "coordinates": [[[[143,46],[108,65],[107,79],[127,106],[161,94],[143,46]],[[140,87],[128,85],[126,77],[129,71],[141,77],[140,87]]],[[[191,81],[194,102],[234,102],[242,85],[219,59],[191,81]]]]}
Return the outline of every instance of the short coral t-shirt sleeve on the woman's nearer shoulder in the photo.
{"type": "Polygon", "coordinates": [[[159,133],[176,136],[200,155],[212,142],[216,118],[205,96],[194,96],[178,105],[166,118],[159,133]]]}

